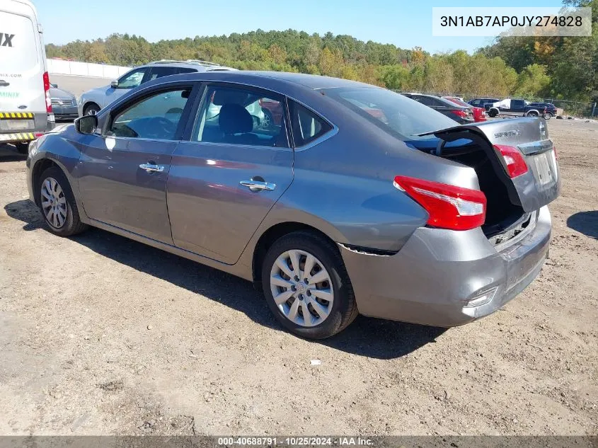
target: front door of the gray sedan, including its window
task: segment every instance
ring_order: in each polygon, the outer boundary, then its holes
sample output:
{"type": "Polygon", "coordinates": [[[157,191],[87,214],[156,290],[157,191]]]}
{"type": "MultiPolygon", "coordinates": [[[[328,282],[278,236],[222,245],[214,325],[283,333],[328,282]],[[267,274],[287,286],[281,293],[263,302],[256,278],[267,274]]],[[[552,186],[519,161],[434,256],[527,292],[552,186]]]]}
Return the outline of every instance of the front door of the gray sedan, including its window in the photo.
{"type": "Polygon", "coordinates": [[[88,217],[172,244],[166,180],[190,107],[192,86],[140,93],[110,111],[103,135],[86,142],[79,189],[88,217]]]}

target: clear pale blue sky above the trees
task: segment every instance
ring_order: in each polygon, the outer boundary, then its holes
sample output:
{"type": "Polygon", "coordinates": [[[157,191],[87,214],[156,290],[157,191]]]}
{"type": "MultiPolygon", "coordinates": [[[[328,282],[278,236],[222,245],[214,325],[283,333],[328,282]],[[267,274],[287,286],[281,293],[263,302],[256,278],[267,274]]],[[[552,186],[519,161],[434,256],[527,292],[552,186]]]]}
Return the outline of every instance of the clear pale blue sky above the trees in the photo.
{"type": "MultiPolygon", "coordinates": [[[[432,37],[433,6],[540,6],[536,0],[33,0],[45,42],[142,35],[151,42],[257,30],[348,34],[360,40],[420,46],[428,52],[473,52],[492,38],[432,37]]],[[[543,0],[541,6],[561,6],[543,0]]]]}

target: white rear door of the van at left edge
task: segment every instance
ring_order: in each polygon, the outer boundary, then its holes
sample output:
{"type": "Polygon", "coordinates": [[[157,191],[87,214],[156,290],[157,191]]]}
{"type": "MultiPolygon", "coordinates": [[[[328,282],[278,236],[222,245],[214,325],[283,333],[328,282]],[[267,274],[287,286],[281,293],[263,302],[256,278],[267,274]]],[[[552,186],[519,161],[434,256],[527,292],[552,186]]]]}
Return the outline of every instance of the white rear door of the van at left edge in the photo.
{"type": "MultiPolygon", "coordinates": [[[[47,117],[44,55],[33,8],[12,0],[0,1],[0,113],[42,113],[47,117]]],[[[0,132],[34,127],[33,117],[30,123],[12,121],[11,125],[1,120],[0,132]]]]}

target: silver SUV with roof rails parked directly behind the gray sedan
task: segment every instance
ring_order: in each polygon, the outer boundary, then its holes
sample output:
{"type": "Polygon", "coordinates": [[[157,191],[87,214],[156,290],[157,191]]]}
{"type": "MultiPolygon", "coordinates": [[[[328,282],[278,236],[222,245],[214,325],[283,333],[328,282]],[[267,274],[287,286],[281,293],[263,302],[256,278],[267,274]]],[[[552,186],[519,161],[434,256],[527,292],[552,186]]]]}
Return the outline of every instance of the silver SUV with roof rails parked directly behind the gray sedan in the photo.
{"type": "Polygon", "coordinates": [[[112,81],[110,86],[92,88],[79,98],[79,116],[96,114],[101,108],[117,98],[125,95],[132,88],[162,76],[182,73],[195,73],[200,71],[227,71],[235,70],[222,67],[214,62],[188,59],[186,61],[173,61],[162,59],[149,64],[135,67],[127,71],[119,79],[112,81]]]}

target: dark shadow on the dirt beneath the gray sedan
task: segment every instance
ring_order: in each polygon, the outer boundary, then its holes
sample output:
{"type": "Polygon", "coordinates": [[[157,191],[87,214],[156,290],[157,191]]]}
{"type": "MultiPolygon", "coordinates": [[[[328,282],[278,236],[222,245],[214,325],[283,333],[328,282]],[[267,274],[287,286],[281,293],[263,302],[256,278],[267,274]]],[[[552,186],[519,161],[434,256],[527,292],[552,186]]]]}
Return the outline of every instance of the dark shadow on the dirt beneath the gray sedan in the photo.
{"type": "MultiPolygon", "coordinates": [[[[38,208],[29,200],[11,202],[4,209],[9,217],[25,222],[25,231],[45,227],[38,208]]],[[[71,239],[118,263],[241,311],[260,325],[282,331],[262,294],[234,275],[100,229],[92,228],[71,239]]],[[[435,342],[444,331],[446,328],[358,316],[342,333],[314,343],[355,355],[392,359],[435,342]]]]}

